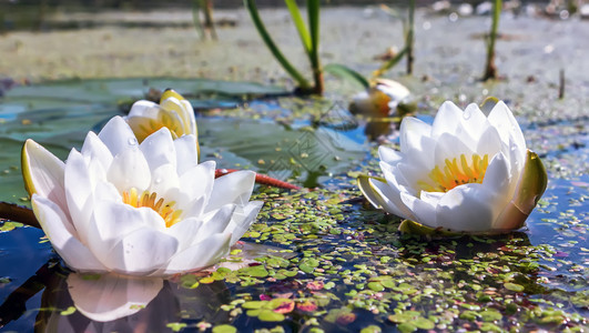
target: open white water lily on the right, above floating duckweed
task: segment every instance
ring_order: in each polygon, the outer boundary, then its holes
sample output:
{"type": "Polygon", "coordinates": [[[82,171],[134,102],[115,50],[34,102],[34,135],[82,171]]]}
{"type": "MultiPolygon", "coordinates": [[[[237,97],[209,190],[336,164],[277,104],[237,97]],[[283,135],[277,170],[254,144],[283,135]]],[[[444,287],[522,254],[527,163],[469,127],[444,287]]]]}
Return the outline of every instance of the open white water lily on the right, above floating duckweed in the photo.
{"type": "Polygon", "coordinates": [[[502,232],[519,229],[542,195],[546,170],[526,149],[511,111],[488,117],[476,105],[445,102],[434,124],[405,118],[400,151],[380,147],[384,178],[358,178],[368,201],[431,229],[502,232]]]}

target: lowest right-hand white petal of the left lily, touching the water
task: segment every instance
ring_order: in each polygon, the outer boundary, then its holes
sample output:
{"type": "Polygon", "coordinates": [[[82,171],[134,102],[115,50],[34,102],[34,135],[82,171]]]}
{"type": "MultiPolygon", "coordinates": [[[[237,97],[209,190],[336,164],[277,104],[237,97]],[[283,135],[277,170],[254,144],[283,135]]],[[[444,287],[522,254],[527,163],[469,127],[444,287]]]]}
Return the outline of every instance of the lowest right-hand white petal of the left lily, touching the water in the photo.
{"type": "Polygon", "coordinates": [[[191,248],[176,253],[167,268],[156,275],[165,276],[189,271],[202,270],[217,263],[230,250],[230,233],[217,233],[191,248]]]}

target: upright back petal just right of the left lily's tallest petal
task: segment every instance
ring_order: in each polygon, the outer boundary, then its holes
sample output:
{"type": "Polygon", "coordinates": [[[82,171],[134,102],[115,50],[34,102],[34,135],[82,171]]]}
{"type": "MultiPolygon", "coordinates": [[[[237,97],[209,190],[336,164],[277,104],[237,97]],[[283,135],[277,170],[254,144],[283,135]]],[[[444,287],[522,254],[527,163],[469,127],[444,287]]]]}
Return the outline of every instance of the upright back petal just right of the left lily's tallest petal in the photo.
{"type": "Polygon", "coordinates": [[[145,138],[139,148],[143,152],[150,170],[153,171],[163,164],[172,164],[175,171],[176,150],[167,128],[162,128],[145,138]]]}

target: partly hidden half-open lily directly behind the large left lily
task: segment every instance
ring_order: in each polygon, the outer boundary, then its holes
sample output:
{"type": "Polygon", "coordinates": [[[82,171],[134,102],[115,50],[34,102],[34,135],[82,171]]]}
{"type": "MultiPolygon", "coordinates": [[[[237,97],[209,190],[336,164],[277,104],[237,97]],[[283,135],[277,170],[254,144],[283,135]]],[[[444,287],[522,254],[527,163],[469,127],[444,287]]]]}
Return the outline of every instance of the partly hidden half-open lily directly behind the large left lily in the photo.
{"type": "Polygon", "coordinates": [[[126,122],[135,133],[139,142],[155,133],[161,128],[167,128],[174,139],[193,134],[199,148],[199,133],[194,109],[180,93],[167,89],[162,93],[160,104],[140,100],[133,103],[126,122]]]}

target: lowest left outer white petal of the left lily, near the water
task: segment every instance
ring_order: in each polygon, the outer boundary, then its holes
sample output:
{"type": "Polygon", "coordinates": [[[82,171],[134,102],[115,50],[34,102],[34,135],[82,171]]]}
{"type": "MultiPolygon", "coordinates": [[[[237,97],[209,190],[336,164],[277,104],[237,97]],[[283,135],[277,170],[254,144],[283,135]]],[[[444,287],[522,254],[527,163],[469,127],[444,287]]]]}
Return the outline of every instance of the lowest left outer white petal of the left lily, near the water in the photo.
{"type": "Polygon", "coordinates": [[[94,254],[80,243],[71,222],[55,203],[37,194],[33,194],[31,202],[53,249],[70,268],[82,272],[106,271],[94,254]]]}

